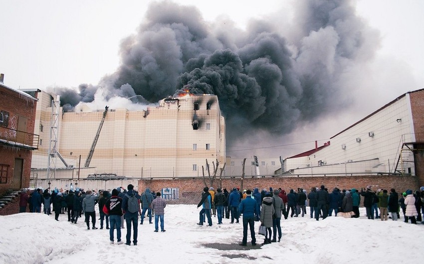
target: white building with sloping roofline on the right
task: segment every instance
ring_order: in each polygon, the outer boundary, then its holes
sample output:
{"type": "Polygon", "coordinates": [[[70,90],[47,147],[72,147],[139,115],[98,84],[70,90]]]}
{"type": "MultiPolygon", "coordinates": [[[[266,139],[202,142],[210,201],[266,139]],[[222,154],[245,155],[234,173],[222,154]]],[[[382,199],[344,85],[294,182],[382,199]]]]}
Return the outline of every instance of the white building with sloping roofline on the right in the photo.
{"type": "Polygon", "coordinates": [[[319,149],[284,159],[282,174],[403,174],[417,175],[423,184],[423,121],[424,89],[408,92],[332,136],[319,149]]]}

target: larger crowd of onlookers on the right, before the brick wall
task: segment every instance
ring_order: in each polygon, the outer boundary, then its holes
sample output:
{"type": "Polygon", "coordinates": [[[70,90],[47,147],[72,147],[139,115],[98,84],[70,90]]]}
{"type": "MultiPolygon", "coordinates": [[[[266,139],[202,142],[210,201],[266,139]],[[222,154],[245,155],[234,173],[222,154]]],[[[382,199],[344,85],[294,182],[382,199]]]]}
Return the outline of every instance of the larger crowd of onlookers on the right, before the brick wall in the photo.
{"type": "Polygon", "coordinates": [[[412,224],[422,222],[424,215],[424,187],[413,192],[406,190],[399,195],[394,188],[390,193],[386,189],[374,191],[371,186],[365,188],[340,190],[333,188],[330,192],[324,185],[318,189],[313,187],[308,193],[303,188],[297,191],[290,189],[287,194],[284,189],[262,189],[240,191],[239,188],[232,188],[228,192],[226,188],[218,188],[216,192],[213,187],[204,187],[202,199],[198,208],[199,223],[203,226],[208,221],[207,226],[212,226],[212,217],[215,211],[218,217],[217,224],[222,224],[222,217],[231,219],[230,224],[239,223],[242,216],[243,239],[240,246],[247,245],[247,229],[250,229],[251,244],[256,245],[254,222],[260,222],[266,229],[265,239],[262,245],[272,242],[280,242],[281,239],[281,218],[304,217],[306,207],[309,206],[310,218],[319,221],[334,216],[345,218],[359,218],[359,207],[363,200],[368,219],[381,219],[387,221],[391,218],[398,221],[400,210],[403,211],[405,222],[412,224]],[[272,229],[271,229],[272,228],[272,229]],[[278,240],[277,240],[278,235],[278,240]]]}

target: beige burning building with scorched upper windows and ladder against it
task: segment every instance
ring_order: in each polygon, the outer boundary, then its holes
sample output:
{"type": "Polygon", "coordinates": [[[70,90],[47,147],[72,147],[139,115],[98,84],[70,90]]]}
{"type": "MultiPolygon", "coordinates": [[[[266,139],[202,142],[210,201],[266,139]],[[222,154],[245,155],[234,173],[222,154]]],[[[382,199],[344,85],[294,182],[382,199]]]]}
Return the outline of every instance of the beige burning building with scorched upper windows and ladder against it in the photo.
{"type": "MultiPolygon", "coordinates": [[[[207,175],[206,160],[225,162],[225,121],[214,95],[166,98],[143,111],[125,108],[61,113],[57,117],[57,152],[51,151],[49,124],[54,96],[40,99],[40,148],[34,152],[37,178],[175,178],[207,175]],[[100,123],[104,117],[104,123],[100,123]],[[46,127],[47,126],[47,127],[46,127]],[[98,134],[91,161],[87,157],[98,134]],[[48,142],[48,143],[47,143],[48,142]],[[49,152],[50,149],[50,152],[49,152]],[[50,155],[49,155],[50,153],[50,155]],[[55,160],[55,168],[47,161],[55,160]],[[62,161],[63,159],[63,161],[62,161]]],[[[53,113],[53,114],[52,114],[53,113]]],[[[38,116],[37,116],[38,117],[38,116]]]]}

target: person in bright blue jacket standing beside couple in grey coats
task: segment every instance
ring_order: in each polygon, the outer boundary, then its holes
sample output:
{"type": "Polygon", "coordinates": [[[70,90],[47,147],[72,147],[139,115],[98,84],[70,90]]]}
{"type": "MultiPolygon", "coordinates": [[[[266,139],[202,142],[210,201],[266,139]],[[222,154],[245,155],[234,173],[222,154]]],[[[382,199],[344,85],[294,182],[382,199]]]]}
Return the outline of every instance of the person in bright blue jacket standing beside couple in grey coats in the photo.
{"type": "Polygon", "coordinates": [[[240,246],[247,245],[247,225],[250,227],[252,246],[255,246],[255,217],[259,215],[259,206],[255,199],[249,199],[252,196],[251,190],[246,190],[246,195],[246,199],[241,200],[241,203],[238,206],[239,213],[243,215],[243,240],[241,241],[240,246]]]}

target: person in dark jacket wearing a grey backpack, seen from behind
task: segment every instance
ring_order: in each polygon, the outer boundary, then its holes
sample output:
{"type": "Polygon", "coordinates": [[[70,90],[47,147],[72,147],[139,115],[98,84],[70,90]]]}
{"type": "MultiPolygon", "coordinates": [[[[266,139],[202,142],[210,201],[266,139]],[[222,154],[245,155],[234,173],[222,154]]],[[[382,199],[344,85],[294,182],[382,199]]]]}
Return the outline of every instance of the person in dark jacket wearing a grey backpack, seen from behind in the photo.
{"type": "MultiPolygon", "coordinates": [[[[151,194],[150,194],[151,195],[151,194]]],[[[140,212],[140,195],[134,190],[134,185],[128,184],[128,191],[122,199],[122,212],[125,214],[127,223],[127,242],[125,245],[131,245],[131,225],[134,228],[133,244],[137,246],[138,233],[138,214],[140,212]]]]}

